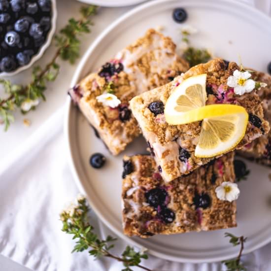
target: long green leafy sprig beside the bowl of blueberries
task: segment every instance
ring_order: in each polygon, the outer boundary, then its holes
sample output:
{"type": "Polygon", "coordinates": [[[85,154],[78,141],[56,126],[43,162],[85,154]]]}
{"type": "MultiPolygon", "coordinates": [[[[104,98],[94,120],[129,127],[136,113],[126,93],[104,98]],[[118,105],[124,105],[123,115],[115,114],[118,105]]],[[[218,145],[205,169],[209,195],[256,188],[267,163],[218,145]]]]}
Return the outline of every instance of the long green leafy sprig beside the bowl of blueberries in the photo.
{"type": "Polygon", "coordinates": [[[45,101],[44,91],[46,83],[54,81],[60,70],[57,63],[59,59],[68,61],[73,64],[79,57],[81,34],[90,33],[90,26],[93,25],[91,16],[96,14],[97,6],[89,5],[80,8],[81,18],[75,20],[71,18],[68,24],[55,36],[56,52],[52,60],[44,67],[34,67],[32,71],[32,81],[27,85],[12,84],[9,80],[0,79],[3,85],[6,98],[0,98],[0,117],[4,123],[6,131],[10,122],[14,121],[12,111],[20,108],[22,113],[27,113],[31,109],[35,109],[34,105],[30,105],[30,109],[24,111],[25,103],[32,103],[37,100],[45,101]]]}

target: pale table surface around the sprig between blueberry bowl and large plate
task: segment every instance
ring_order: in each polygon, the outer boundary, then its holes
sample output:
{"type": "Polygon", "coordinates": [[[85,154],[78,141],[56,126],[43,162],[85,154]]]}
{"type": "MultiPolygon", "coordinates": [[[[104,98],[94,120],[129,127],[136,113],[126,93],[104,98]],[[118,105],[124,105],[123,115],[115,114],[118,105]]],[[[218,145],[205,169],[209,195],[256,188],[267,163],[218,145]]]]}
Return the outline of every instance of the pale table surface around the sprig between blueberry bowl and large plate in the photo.
{"type": "MultiPolygon", "coordinates": [[[[76,0],[58,0],[58,19],[57,19],[57,31],[61,29],[68,21],[70,17],[79,16],[79,8],[82,3],[76,0]]],[[[100,8],[99,15],[94,17],[93,21],[95,26],[92,27],[92,33],[86,34],[82,39],[81,55],[86,51],[91,42],[104,30],[111,22],[121,16],[126,11],[130,10],[134,6],[118,7],[118,8],[100,8]]],[[[38,65],[45,65],[54,54],[54,46],[50,46],[43,57],[36,62],[38,65]]],[[[79,61],[79,60],[78,60],[79,61]]],[[[77,61],[77,63],[78,63],[77,61]]],[[[30,112],[27,115],[21,115],[20,112],[15,112],[16,122],[11,124],[7,132],[3,132],[3,126],[0,125],[0,153],[6,155],[16,155],[16,148],[32,135],[44,121],[53,114],[60,106],[62,106],[67,98],[67,90],[73,72],[76,68],[75,63],[73,66],[65,64],[61,65],[60,75],[57,80],[51,83],[45,93],[46,102],[42,102],[35,111],[30,112]],[[27,118],[31,120],[30,127],[26,127],[23,124],[23,119],[27,118]]],[[[20,74],[13,76],[12,82],[27,83],[31,80],[31,68],[23,71],[20,74]]],[[[2,90],[0,90],[1,93],[2,90]]],[[[1,93],[2,95],[2,93],[1,93]]],[[[6,155],[0,156],[0,163],[6,159],[6,155]]],[[[18,265],[0,255],[0,270],[1,271],[29,271],[29,269],[18,265]]]]}

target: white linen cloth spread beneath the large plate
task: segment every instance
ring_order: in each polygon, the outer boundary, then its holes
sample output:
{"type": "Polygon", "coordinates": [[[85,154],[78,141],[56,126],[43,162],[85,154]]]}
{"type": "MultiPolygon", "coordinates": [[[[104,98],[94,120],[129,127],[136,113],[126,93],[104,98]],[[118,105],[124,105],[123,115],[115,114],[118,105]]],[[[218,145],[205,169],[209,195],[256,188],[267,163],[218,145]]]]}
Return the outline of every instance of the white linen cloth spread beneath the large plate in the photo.
{"type": "MultiPolygon", "coordinates": [[[[271,1],[249,2],[270,12],[271,1]]],[[[94,261],[87,252],[70,254],[74,241],[61,232],[59,212],[78,193],[65,159],[62,123],[60,109],[17,149],[16,159],[7,157],[0,165],[0,254],[34,271],[120,271],[122,264],[114,260],[94,261]]],[[[92,224],[101,237],[114,236],[94,213],[92,224]]],[[[119,239],[114,254],[125,246],[119,239]]],[[[271,270],[271,244],[243,261],[248,271],[271,270]]],[[[226,270],[220,263],[179,264],[152,256],[142,265],[159,271],[226,270]]]]}

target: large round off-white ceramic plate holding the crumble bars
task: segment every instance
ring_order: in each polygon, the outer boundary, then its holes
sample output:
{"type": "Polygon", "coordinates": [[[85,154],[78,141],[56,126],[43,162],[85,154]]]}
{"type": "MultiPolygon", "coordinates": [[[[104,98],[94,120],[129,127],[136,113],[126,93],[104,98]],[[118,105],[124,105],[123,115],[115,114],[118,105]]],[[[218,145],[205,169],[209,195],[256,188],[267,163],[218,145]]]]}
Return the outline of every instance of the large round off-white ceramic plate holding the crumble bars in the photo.
{"type": "MultiPolygon", "coordinates": [[[[173,8],[184,7],[189,15],[188,24],[199,33],[194,46],[213,49],[216,56],[238,62],[238,55],[246,67],[266,71],[270,59],[271,19],[254,8],[232,0],[156,0],[136,7],[113,23],[90,46],[71,86],[89,71],[97,70],[106,60],[151,27],[165,26],[178,44],[179,25],[174,23],[173,8]]],[[[241,196],[237,201],[238,227],[213,232],[188,233],[174,236],[156,236],[148,239],[129,238],[122,233],[121,172],[122,156],[145,152],[143,138],[138,138],[127,150],[113,157],[95,137],[91,127],[70,100],[67,103],[66,137],[70,166],[81,192],[88,196],[92,208],[105,225],[127,242],[147,247],[155,256],[178,262],[213,262],[237,255],[237,248],[224,238],[225,232],[248,237],[245,253],[271,241],[271,209],[267,199],[271,195],[270,169],[247,163],[251,174],[240,183],[241,196]],[[95,170],[89,157],[102,152],[106,166],[95,170]]]]}

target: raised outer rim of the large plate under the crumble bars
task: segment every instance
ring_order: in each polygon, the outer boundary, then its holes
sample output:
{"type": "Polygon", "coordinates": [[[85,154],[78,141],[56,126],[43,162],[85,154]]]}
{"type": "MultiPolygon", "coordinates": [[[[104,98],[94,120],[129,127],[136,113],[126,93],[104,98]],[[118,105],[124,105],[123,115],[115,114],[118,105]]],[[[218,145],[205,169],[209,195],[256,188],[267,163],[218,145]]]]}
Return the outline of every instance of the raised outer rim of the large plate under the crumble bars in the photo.
{"type": "MultiPolygon", "coordinates": [[[[128,17],[132,16],[134,13],[150,7],[152,5],[155,4],[159,4],[159,3],[163,3],[163,2],[167,2],[168,0],[152,0],[146,3],[143,3],[141,5],[136,6],[135,8],[131,9],[130,11],[128,11],[127,13],[125,13],[124,15],[122,15],[120,18],[116,19],[113,23],[111,23],[105,30],[102,31],[102,33],[94,40],[94,42],[90,45],[90,47],[87,49],[87,51],[85,52],[84,56],[82,57],[80,63],[78,64],[75,73],[73,75],[73,78],[71,80],[71,84],[70,87],[73,87],[78,80],[81,78],[80,74],[82,73],[82,69],[85,66],[85,63],[88,61],[89,56],[91,55],[92,51],[95,50],[96,46],[100,43],[100,41],[111,32],[112,29],[114,29],[117,25],[119,25],[122,21],[126,20],[128,17]]],[[[239,5],[240,7],[246,7],[248,9],[250,9],[253,12],[257,12],[259,14],[261,14],[261,16],[265,17],[266,19],[268,19],[271,22],[271,18],[266,15],[265,13],[257,10],[256,8],[245,4],[244,2],[237,2],[236,0],[221,0],[224,2],[229,2],[229,3],[235,3],[237,5],[239,5]]],[[[72,153],[71,153],[71,141],[70,141],[70,137],[69,137],[69,115],[70,115],[70,110],[71,110],[71,106],[72,105],[72,101],[70,99],[70,97],[67,98],[67,102],[65,105],[65,116],[64,116],[64,135],[65,135],[65,144],[67,146],[68,149],[68,163],[69,166],[71,168],[71,172],[72,172],[72,176],[74,177],[74,181],[79,189],[79,192],[86,195],[86,189],[84,188],[84,185],[82,184],[82,182],[79,179],[79,176],[77,175],[75,166],[73,164],[72,161],[72,153]]],[[[87,200],[90,203],[91,208],[94,210],[94,212],[97,214],[97,216],[101,219],[102,223],[109,228],[110,230],[112,230],[114,232],[114,234],[116,234],[118,237],[122,238],[123,240],[125,240],[126,242],[136,246],[136,247],[141,247],[142,245],[138,244],[134,239],[125,236],[123,233],[120,233],[118,231],[118,229],[116,229],[114,226],[112,226],[105,218],[105,216],[97,209],[97,207],[95,206],[95,204],[92,204],[93,201],[87,196],[87,200]]],[[[249,248],[246,249],[244,248],[243,250],[243,255],[244,254],[248,254],[252,251],[255,251],[256,249],[268,244],[271,242],[271,236],[269,238],[264,239],[263,241],[260,241],[257,245],[254,245],[253,248],[249,248]]],[[[226,259],[230,259],[230,258],[234,258],[236,257],[236,252],[232,252],[231,254],[228,254],[227,257],[222,257],[222,256],[215,256],[213,258],[209,258],[209,259],[187,259],[187,258],[179,258],[176,259],[176,257],[174,256],[169,256],[167,255],[167,257],[165,257],[165,255],[163,253],[157,252],[155,250],[152,249],[148,249],[148,252],[153,255],[156,256],[158,258],[161,259],[165,259],[165,260],[169,260],[169,261],[177,261],[180,263],[212,263],[212,262],[220,262],[226,259]]]]}

